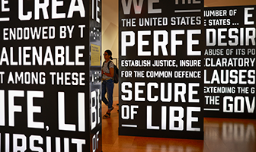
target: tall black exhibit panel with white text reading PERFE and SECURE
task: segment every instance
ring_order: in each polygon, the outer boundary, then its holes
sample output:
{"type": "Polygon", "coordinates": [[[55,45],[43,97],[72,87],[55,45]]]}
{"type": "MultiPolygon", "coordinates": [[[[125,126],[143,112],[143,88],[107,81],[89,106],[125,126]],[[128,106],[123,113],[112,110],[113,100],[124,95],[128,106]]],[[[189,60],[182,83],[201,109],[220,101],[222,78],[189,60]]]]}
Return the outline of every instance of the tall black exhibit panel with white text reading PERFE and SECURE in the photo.
{"type": "Polygon", "coordinates": [[[119,1],[119,135],[203,139],[203,1],[119,1]]]}

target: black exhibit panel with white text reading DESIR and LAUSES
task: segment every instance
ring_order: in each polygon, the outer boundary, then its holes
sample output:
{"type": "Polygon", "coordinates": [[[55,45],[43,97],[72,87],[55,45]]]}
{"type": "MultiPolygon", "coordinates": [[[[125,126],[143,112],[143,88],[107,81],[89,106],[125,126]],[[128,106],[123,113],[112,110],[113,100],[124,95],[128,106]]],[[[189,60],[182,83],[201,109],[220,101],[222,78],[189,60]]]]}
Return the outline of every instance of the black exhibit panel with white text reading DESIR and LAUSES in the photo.
{"type": "Polygon", "coordinates": [[[205,8],[206,117],[256,119],[256,6],[205,8]]]}

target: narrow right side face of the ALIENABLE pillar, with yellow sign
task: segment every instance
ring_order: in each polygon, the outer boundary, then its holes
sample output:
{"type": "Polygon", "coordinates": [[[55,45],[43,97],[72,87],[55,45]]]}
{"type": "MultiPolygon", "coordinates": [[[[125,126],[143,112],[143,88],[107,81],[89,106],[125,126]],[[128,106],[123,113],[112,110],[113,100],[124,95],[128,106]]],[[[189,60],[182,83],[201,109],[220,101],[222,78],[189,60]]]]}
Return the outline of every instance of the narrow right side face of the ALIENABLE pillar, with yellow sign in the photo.
{"type": "Polygon", "coordinates": [[[90,6],[90,151],[101,152],[101,1],[91,0],[90,6]]]}

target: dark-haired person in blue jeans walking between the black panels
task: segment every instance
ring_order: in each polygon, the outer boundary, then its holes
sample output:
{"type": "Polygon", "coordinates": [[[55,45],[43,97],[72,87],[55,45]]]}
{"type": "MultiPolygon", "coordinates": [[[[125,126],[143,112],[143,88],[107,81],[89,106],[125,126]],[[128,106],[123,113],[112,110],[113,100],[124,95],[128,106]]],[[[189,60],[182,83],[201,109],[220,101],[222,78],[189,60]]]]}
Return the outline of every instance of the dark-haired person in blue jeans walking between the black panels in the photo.
{"type": "Polygon", "coordinates": [[[108,110],[107,113],[103,116],[103,119],[110,118],[110,112],[114,109],[113,107],[113,90],[114,90],[114,63],[111,62],[112,60],[112,52],[110,50],[106,50],[104,52],[104,59],[102,65],[102,101],[107,105],[108,110]],[[107,93],[107,99],[105,94],[107,93]]]}

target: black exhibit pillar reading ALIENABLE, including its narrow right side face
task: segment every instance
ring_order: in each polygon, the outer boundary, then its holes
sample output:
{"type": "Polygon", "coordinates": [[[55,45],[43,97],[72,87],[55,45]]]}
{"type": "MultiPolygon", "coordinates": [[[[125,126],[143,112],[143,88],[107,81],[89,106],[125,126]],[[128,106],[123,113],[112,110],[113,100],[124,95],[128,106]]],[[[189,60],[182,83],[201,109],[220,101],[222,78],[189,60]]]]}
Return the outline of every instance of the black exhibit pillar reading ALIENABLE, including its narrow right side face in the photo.
{"type": "Polygon", "coordinates": [[[0,151],[101,152],[101,2],[0,5],[0,151]]]}

